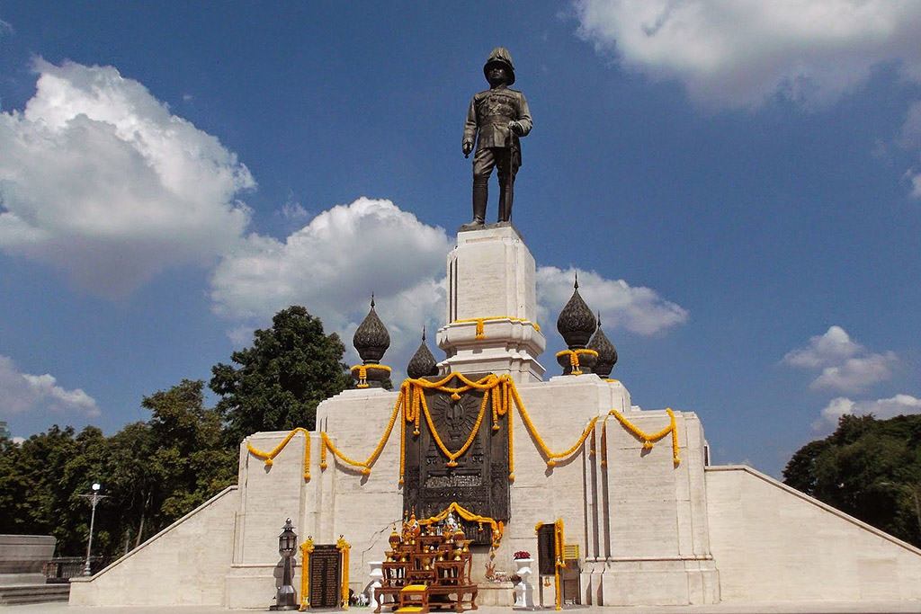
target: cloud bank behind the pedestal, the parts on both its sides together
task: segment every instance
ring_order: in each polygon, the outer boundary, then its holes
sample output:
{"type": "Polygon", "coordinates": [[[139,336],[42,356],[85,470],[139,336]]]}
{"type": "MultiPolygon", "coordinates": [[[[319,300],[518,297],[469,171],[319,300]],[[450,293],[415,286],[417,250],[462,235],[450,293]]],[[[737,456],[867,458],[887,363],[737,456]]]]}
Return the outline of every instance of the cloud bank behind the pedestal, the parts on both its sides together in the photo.
{"type": "MultiPolygon", "coordinates": [[[[376,310],[391,333],[386,361],[400,369],[418,346],[422,327],[428,328],[431,343],[431,333],[444,324],[445,264],[452,247],[444,229],[421,223],[391,201],[359,198],[317,215],[284,241],[247,237],[216,267],[213,307],[236,320],[228,334],[240,345],[251,342],[252,329],[266,326],[274,312],[303,305],[349,347],[374,292],[376,310]]],[[[574,273],[538,268],[542,320],[555,318],[572,295],[574,273]]],[[[653,334],[688,318],[682,307],[649,288],[595,272],[579,272],[579,284],[589,305],[602,312],[608,330],[622,326],[653,334]]],[[[354,352],[349,353],[354,360],[354,352]]]]}

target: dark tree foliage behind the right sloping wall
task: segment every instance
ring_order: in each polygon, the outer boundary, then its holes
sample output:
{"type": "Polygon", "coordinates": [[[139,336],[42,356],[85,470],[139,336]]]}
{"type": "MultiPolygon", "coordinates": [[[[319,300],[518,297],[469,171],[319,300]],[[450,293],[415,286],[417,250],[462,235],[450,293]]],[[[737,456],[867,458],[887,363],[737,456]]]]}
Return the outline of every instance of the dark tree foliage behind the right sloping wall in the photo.
{"type": "Polygon", "coordinates": [[[921,546],[921,416],[844,415],[790,458],[784,482],[921,546]]]}

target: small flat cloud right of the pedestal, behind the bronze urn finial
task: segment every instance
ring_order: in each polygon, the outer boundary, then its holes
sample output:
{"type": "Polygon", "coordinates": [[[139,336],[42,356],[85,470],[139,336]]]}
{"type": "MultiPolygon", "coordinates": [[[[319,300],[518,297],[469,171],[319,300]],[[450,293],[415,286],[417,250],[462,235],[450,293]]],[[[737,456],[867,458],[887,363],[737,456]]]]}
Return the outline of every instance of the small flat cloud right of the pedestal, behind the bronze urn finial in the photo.
{"type": "Polygon", "coordinates": [[[542,266],[537,270],[537,299],[543,321],[555,319],[555,314],[572,296],[577,272],[579,294],[589,307],[601,312],[606,330],[620,326],[637,334],[651,335],[688,319],[686,309],[645,286],[631,286],[623,279],[605,279],[593,271],[542,266]]]}

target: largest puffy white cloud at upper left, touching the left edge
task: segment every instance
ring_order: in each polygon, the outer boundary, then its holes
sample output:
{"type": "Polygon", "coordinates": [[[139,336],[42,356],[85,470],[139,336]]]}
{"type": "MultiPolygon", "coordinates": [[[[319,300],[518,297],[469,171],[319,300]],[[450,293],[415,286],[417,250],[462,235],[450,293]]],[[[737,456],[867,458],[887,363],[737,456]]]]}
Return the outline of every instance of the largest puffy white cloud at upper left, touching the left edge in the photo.
{"type": "Polygon", "coordinates": [[[25,110],[0,113],[0,249],[120,296],[241,240],[255,182],[216,137],[111,66],[35,67],[25,110]]]}

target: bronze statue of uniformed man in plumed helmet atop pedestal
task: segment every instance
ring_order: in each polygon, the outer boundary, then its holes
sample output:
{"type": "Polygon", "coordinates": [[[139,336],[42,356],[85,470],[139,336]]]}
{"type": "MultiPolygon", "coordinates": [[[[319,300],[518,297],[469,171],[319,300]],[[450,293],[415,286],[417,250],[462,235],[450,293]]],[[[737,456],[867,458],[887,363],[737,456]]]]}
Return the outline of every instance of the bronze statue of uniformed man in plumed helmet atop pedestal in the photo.
{"type": "Polygon", "coordinates": [[[473,143],[473,221],[464,228],[483,226],[486,219],[489,177],[496,168],[499,180],[499,222],[512,216],[515,175],[521,166],[519,136],[530,133],[528,101],[524,94],[508,86],[515,83],[512,56],[505,47],[496,47],[483,66],[489,89],[470,101],[463,129],[461,150],[470,156],[473,143]]]}

